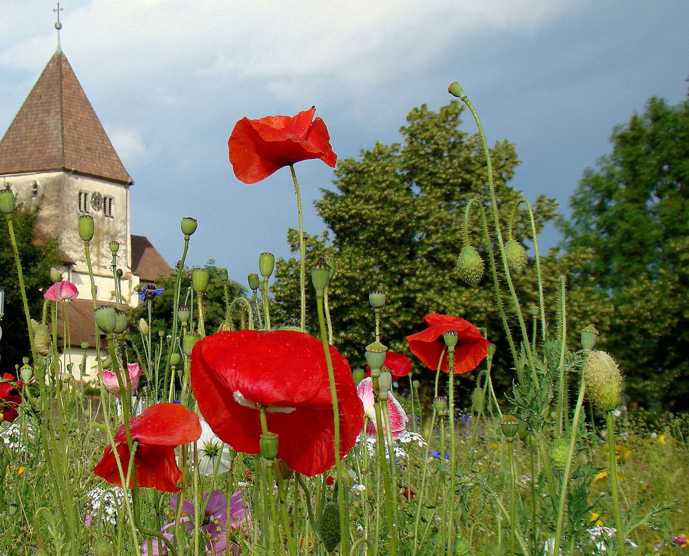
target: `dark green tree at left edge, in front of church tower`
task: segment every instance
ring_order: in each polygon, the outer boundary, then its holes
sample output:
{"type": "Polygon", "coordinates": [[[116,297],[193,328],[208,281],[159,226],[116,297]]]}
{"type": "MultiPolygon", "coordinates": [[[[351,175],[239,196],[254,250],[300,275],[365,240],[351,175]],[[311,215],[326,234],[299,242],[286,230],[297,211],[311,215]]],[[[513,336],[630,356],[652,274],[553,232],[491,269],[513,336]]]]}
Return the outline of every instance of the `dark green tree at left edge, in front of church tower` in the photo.
{"type": "MultiPolygon", "coordinates": [[[[57,240],[37,234],[36,221],[38,208],[28,211],[17,206],[12,213],[14,236],[24,277],[26,295],[32,318],[40,320],[43,310],[43,292],[50,287],[50,267],[60,266],[62,257],[57,240]]],[[[0,375],[6,372],[15,374],[15,365],[21,367],[21,360],[30,355],[29,333],[26,330],[17,265],[10,243],[5,218],[0,232],[0,288],[5,290],[5,314],[0,321],[2,339],[0,340],[0,375]]]]}

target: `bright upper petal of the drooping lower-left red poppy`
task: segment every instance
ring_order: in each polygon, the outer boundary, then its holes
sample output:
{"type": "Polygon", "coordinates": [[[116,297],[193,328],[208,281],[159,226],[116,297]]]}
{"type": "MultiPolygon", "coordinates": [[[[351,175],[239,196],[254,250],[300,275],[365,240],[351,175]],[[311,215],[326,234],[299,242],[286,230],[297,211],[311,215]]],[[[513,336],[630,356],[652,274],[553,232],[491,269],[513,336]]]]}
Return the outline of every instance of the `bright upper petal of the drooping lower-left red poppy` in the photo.
{"type": "MultiPolygon", "coordinates": [[[[130,429],[134,440],[159,446],[189,444],[201,436],[198,415],[181,403],[158,403],[147,407],[141,415],[130,420],[130,429]]],[[[121,437],[116,436],[116,440],[121,440],[121,437]]]]}

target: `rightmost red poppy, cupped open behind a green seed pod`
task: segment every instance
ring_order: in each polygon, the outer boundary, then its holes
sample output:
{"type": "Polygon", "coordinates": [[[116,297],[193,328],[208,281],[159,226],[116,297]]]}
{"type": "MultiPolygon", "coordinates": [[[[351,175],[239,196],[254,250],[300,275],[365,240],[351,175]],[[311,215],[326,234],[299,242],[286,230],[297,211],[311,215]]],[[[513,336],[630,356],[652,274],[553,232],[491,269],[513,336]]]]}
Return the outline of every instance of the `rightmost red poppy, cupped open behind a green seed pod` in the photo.
{"type": "Polygon", "coordinates": [[[490,342],[469,321],[438,313],[426,314],[424,321],[429,328],[407,336],[407,343],[411,352],[429,369],[438,369],[440,355],[444,350],[440,370],[449,372],[449,359],[442,339],[442,335],[449,330],[456,330],[458,334],[455,346],[455,374],[473,371],[488,354],[487,347],[490,342]]]}

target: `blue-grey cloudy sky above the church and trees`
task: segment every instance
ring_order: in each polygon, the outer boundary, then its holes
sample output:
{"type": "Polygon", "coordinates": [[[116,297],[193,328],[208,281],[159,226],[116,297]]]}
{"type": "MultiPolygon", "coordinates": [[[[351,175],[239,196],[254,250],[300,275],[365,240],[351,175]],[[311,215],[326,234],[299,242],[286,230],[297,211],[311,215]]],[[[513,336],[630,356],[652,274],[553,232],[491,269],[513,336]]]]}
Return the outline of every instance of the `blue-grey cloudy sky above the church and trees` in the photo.
{"type": "MultiPolygon", "coordinates": [[[[132,230],[170,263],[196,217],[187,261],[245,281],[258,253],[289,255],[289,171],[234,177],[227,138],[248,116],[311,105],[340,158],[395,142],[409,110],[449,102],[459,81],[489,142],[514,142],[511,183],[566,210],[613,126],[650,96],[678,103],[689,76],[687,0],[64,0],[61,44],[132,186],[132,230]]],[[[56,3],[0,0],[0,133],[56,48],[56,3]]],[[[473,122],[464,129],[473,133],[473,122]]],[[[297,167],[305,230],[332,170],[297,167]]],[[[548,230],[542,244],[552,246],[548,230]]]]}

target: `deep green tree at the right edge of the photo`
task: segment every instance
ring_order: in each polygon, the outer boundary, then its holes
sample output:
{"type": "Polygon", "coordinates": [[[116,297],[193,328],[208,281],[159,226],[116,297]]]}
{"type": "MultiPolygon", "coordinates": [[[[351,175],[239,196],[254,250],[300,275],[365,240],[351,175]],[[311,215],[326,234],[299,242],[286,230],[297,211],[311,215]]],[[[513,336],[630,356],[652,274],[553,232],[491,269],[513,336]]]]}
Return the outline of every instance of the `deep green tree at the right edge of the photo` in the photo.
{"type": "Polygon", "coordinates": [[[601,332],[630,402],[688,409],[689,101],[650,98],[610,140],[571,199],[565,246],[592,255],[577,275],[613,301],[601,332]]]}

